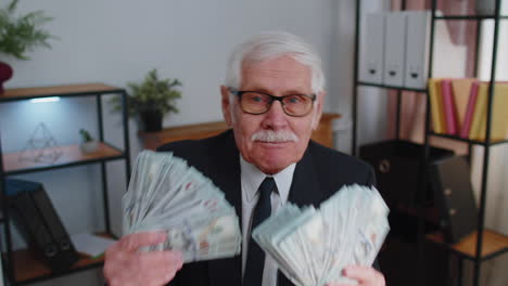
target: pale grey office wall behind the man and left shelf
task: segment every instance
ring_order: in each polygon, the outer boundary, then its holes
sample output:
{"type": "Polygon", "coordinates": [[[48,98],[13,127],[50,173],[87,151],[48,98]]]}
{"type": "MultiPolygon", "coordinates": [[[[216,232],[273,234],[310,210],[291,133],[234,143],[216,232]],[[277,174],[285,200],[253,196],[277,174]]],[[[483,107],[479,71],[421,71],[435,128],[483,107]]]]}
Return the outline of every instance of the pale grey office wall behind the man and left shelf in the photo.
{"type": "MultiPolygon", "coordinates": [[[[371,1],[372,2],[372,1],[371,1]]],[[[373,1],[376,2],[376,1],[373,1]]],[[[151,68],[183,82],[179,114],[164,126],[221,119],[219,84],[233,46],[262,30],[283,29],[310,42],[328,74],[325,110],[347,115],[351,106],[354,49],[354,1],[334,0],[24,0],[18,12],[45,10],[54,20],[47,28],[58,40],[52,49],[36,49],[30,61],[0,54],[14,68],[7,88],[102,81],[125,87],[140,81],[151,68]]],[[[122,145],[119,117],[104,101],[105,136],[122,145]]],[[[77,143],[78,130],[97,134],[92,99],[58,103],[0,105],[2,148],[25,147],[34,129],[45,122],[59,144],[77,143]]],[[[131,157],[140,150],[137,126],[130,122],[131,157]]],[[[126,190],[123,162],[107,165],[111,216],[120,233],[119,200],[126,190]]],[[[46,171],[20,178],[45,184],[69,233],[103,227],[100,170],[94,166],[46,171]]],[[[24,243],[16,234],[16,247],[24,243]]],[[[100,285],[100,271],[37,285],[100,285]]]]}

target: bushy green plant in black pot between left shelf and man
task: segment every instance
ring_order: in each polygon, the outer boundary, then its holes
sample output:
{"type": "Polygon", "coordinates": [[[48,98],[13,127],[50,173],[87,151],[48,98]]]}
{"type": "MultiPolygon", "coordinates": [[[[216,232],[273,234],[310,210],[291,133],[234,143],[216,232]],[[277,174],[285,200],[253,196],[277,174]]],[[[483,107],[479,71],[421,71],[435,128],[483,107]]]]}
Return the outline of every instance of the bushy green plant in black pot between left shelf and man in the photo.
{"type": "MultiPolygon", "coordinates": [[[[155,132],[162,130],[164,115],[178,113],[175,100],[181,98],[181,92],[177,89],[181,87],[178,79],[160,79],[157,69],[150,70],[141,83],[128,82],[130,93],[127,100],[127,110],[129,116],[136,117],[142,130],[155,132]]],[[[113,98],[113,109],[120,110],[119,98],[113,98]]]]}

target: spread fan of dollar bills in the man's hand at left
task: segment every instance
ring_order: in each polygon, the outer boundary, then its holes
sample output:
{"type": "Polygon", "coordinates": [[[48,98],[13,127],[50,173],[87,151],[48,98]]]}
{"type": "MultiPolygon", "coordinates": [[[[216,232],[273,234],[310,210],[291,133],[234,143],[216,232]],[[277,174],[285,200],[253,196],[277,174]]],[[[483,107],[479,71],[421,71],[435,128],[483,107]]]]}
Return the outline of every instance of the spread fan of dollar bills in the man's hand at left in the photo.
{"type": "Polygon", "coordinates": [[[234,208],[209,179],[173,153],[141,152],[122,204],[124,234],[167,232],[165,243],[143,250],[179,250],[185,262],[240,252],[234,208]]]}

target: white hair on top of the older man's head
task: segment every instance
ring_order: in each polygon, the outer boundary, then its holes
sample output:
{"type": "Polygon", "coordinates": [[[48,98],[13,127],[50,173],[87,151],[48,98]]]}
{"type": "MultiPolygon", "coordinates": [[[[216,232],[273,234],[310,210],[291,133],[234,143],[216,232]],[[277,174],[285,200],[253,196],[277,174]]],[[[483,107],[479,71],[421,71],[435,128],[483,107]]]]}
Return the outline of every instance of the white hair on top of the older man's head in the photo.
{"type": "Polygon", "coordinates": [[[265,31],[239,44],[229,57],[225,86],[240,88],[244,62],[262,62],[283,55],[310,68],[312,89],[316,95],[325,90],[321,60],[308,43],[285,31],[265,31]]]}

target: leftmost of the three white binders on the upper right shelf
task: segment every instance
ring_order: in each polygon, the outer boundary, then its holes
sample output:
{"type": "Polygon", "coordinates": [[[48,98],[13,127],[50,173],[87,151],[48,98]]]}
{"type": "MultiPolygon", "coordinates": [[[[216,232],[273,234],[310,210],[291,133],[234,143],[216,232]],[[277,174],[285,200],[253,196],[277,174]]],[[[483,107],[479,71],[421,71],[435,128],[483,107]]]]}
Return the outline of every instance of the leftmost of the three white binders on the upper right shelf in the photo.
{"type": "Polygon", "coordinates": [[[384,13],[367,14],[365,43],[360,81],[381,84],[384,62],[384,13]]]}

